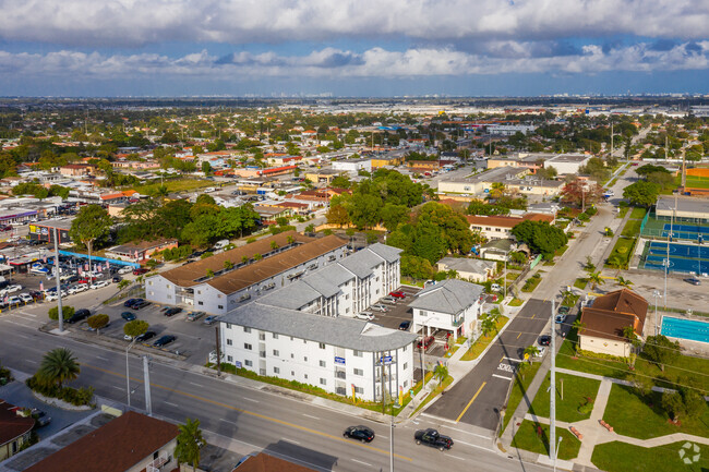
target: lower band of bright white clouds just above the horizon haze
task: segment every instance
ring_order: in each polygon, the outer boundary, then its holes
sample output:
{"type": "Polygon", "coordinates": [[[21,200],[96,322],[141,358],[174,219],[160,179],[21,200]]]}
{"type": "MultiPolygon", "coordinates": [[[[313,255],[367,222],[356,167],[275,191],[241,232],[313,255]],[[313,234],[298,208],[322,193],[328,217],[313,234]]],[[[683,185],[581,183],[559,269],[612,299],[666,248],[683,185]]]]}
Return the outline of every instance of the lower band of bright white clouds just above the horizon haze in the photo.
{"type": "Polygon", "coordinates": [[[594,74],[608,71],[677,71],[709,69],[709,41],[684,43],[666,50],[646,44],[604,51],[585,46],[580,53],[533,57],[533,46],[508,45],[515,59],[472,55],[449,48],[412,48],[390,51],[372,48],[354,53],[334,48],[308,56],[279,56],[274,52],[239,52],[217,58],[206,50],[181,58],[163,55],[112,55],[58,51],[46,55],[0,51],[0,71],[23,76],[80,76],[88,80],[140,78],[161,75],[179,80],[199,76],[214,80],[260,80],[264,77],[423,77],[466,76],[500,73],[594,74]]]}

